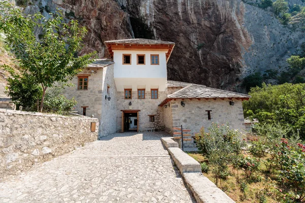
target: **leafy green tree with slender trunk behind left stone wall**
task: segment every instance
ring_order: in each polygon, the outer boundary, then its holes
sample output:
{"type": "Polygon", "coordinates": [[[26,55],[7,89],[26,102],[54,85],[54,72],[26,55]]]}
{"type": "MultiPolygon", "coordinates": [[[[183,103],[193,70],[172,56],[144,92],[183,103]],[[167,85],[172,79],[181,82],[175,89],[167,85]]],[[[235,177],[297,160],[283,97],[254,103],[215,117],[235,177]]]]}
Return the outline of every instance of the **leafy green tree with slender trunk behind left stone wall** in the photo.
{"type": "Polygon", "coordinates": [[[71,80],[92,62],[94,53],[77,56],[86,28],[76,20],[65,23],[61,13],[49,19],[41,14],[24,16],[19,9],[1,3],[0,30],[18,59],[17,65],[23,73],[31,75],[35,84],[41,85],[41,112],[48,87],[71,80]]]}

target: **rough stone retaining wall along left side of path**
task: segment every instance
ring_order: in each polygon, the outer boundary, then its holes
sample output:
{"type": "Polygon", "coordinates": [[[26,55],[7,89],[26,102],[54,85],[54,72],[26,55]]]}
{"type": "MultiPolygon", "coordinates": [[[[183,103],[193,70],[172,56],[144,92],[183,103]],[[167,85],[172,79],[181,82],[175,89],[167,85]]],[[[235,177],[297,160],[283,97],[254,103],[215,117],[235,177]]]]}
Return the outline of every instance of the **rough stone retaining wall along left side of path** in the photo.
{"type": "Polygon", "coordinates": [[[98,126],[97,118],[0,109],[0,179],[96,141],[98,126]]]}

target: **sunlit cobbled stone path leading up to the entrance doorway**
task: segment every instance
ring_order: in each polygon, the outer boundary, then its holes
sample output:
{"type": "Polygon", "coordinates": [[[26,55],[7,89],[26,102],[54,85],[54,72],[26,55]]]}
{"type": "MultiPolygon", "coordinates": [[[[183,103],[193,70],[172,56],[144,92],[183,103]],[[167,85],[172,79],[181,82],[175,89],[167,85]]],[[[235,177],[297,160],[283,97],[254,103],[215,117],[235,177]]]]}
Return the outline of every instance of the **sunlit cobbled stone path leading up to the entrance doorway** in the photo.
{"type": "Polygon", "coordinates": [[[0,202],[195,202],[161,132],[117,133],[0,183],[0,202]]]}

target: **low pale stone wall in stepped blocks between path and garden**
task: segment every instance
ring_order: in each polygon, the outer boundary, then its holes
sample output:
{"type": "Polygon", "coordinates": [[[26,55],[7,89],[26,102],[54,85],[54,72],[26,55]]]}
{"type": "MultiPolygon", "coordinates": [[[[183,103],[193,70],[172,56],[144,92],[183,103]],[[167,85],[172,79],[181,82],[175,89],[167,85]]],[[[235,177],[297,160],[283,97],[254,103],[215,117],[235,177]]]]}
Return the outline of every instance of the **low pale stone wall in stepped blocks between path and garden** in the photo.
{"type": "Polygon", "coordinates": [[[198,203],[233,203],[226,193],[201,173],[200,163],[174,144],[171,138],[161,138],[198,203]]]}

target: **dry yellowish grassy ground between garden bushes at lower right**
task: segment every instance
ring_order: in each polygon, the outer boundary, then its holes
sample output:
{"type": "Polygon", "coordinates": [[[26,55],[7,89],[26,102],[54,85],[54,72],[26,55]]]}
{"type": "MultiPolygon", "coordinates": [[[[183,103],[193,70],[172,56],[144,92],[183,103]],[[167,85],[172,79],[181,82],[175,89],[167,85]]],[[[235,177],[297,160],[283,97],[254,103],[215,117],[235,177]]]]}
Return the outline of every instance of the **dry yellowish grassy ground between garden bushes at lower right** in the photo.
{"type": "MultiPolygon", "coordinates": [[[[206,158],[198,152],[188,152],[188,154],[193,157],[198,162],[207,161],[206,158]]],[[[247,154],[245,154],[247,156],[247,154]]],[[[263,160],[263,159],[262,159],[263,160]]],[[[263,191],[270,184],[272,177],[270,174],[266,173],[266,167],[264,164],[260,164],[259,171],[254,174],[254,177],[260,176],[260,182],[249,181],[243,175],[241,170],[237,170],[239,183],[232,174],[233,167],[229,166],[229,171],[231,175],[228,176],[227,180],[222,180],[222,190],[231,197],[236,202],[278,202],[271,196],[265,195],[263,191]]],[[[203,173],[210,181],[215,183],[214,176],[211,172],[203,173]]],[[[218,185],[219,186],[219,185],[218,185]]]]}

